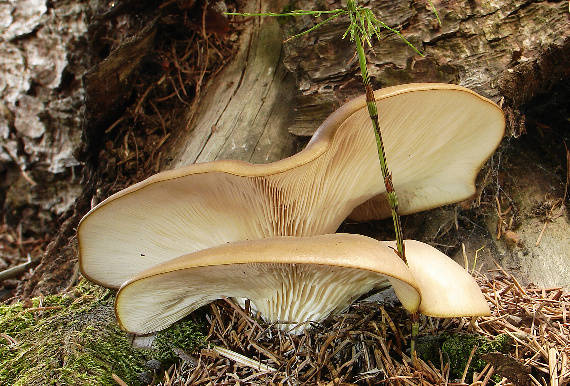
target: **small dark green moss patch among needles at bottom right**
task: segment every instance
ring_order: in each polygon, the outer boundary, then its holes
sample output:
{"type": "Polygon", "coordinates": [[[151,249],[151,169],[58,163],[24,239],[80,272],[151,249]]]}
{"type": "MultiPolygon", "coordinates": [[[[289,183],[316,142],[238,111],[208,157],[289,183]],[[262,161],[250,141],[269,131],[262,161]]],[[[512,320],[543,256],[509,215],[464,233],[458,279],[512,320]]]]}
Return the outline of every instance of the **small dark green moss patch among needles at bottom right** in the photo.
{"type": "Polygon", "coordinates": [[[499,335],[495,339],[476,334],[427,336],[419,339],[417,352],[424,361],[430,361],[439,367],[439,350],[441,350],[443,361],[450,364],[451,378],[457,379],[461,378],[469,355],[475,346],[477,346],[477,350],[469,365],[468,379],[470,379],[473,371],[481,371],[485,367],[485,362],[481,359],[482,354],[494,351],[508,352],[511,346],[511,338],[507,334],[499,335]]]}

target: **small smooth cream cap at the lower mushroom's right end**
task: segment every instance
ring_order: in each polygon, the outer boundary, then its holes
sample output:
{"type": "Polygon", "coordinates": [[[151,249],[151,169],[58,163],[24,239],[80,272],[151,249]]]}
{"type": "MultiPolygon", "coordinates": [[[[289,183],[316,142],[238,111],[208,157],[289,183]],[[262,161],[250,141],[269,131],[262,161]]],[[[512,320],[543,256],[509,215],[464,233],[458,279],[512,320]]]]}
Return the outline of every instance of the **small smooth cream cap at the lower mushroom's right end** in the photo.
{"type": "MultiPolygon", "coordinates": [[[[396,248],[395,241],[384,241],[396,248]]],[[[491,314],[477,282],[463,267],[431,245],[406,240],[408,267],[420,290],[419,312],[427,316],[451,318],[491,314]]]]}

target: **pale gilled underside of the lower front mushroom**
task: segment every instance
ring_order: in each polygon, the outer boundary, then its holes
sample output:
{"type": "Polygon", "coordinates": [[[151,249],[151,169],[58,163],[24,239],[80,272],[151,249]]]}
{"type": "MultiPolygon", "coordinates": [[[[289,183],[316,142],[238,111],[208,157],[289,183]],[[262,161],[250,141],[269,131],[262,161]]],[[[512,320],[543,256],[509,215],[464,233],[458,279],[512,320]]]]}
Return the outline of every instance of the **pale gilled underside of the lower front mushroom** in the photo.
{"type": "Polygon", "coordinates": [[[214,300],[237,297],[249,299],[266,322],[301,333],[311,322],[342,311],[386,280],[414,303],[413,287],[375,272],[316,264],[248,263],[196,267],[191,277],[175,271],[135,282],[121,290],[116,310],[125,330],[146,334],[214,300]]]}

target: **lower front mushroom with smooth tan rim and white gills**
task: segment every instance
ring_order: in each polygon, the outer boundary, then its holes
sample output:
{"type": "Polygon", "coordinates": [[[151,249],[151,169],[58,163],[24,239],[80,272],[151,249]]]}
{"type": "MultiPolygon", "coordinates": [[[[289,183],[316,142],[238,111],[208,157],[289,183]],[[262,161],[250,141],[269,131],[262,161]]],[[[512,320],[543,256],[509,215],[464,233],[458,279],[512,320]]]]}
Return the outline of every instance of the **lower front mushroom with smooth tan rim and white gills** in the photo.
{"type": "Polygon", "coordinates": [[[374,239],[334,234],[242,241],[141,272],[119,290],[115,312],[123,329],[147,334],[221,297],[247,298],[266,321],[298,333],[386,279],[403,306],[416,311],[414,277],[392,248],[374,239]]]}

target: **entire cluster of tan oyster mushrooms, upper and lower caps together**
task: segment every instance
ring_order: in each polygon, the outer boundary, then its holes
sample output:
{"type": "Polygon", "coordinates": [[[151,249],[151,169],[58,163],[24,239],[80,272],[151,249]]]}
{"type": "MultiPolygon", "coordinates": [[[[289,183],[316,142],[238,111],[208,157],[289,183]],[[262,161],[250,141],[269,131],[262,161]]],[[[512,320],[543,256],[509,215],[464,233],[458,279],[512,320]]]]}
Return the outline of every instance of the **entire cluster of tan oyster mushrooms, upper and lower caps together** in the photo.
{"type": "MultiPolygon", "coordinates": [[[[401,85],[375,97],[401,214],[475,193],[504,133],[497,105],[448,84],[401,85]]],[[[347,217],[389,217],[385,193],[360,97],[289,158],[194,164],[107,198],[80,223],[81,272],[120,287],[117,320],[136,334],[221,297],[249,299],[266,321],[298,333],[386,282],[412,313],[489,314],[473,278],[435,248],[406,240],[406,264],[394,242],[334,234],[347,217]]]]}

